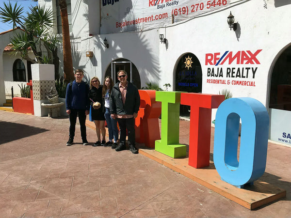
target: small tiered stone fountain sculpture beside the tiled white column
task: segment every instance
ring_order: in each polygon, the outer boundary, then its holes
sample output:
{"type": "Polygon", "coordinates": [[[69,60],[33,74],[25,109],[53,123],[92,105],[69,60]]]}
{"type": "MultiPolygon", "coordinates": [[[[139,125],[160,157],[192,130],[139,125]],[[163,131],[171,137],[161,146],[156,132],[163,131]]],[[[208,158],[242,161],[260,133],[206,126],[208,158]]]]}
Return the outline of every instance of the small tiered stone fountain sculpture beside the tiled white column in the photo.
{"type": "Polygon", "coordinates": [[[60,107],[64,105],[64,102],[59,103],[59,94],[55,87],[49,89],[47,94],[50,104],[42,103],[41,106],[49,109],[49,117],[59,117],[61,116],[60,107]]]}

